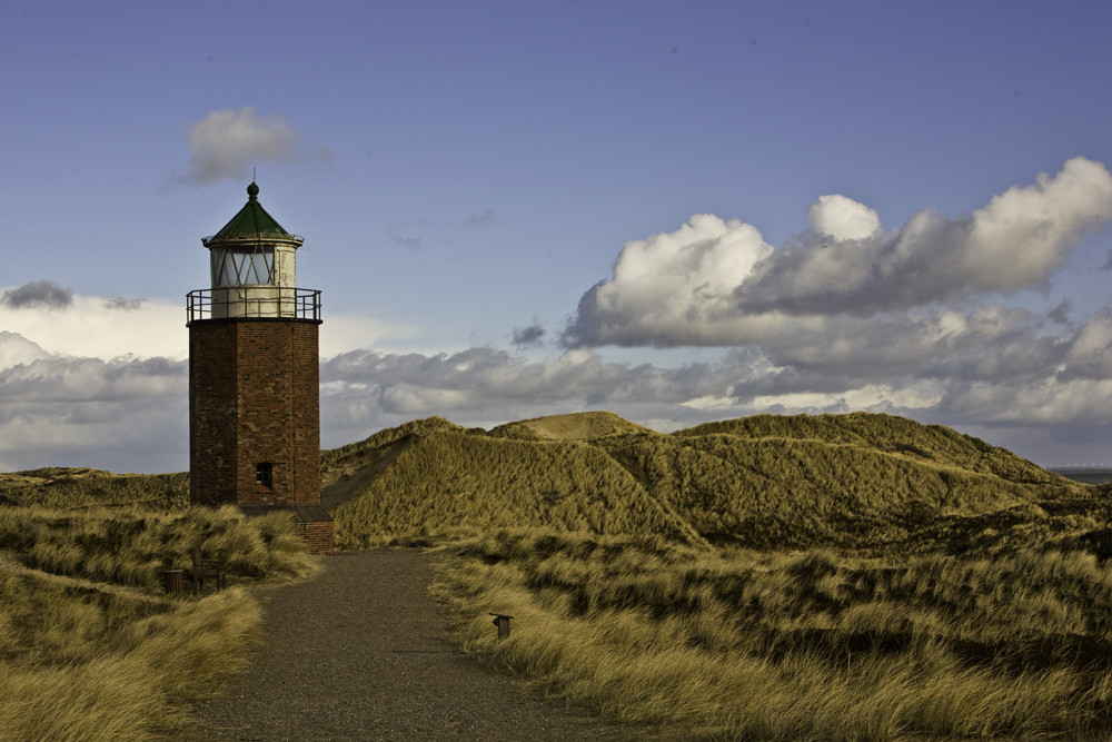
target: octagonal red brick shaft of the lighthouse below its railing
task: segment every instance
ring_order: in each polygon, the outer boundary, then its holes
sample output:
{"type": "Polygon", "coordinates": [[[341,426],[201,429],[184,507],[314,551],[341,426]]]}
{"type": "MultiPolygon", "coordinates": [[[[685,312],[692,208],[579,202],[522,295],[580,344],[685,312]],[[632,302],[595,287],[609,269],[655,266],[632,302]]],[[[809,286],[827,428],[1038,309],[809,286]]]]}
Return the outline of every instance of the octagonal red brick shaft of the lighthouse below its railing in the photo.
{"type": "Polygon", "coordinates": [[[319,323],[210,319],[189,326],[190,502],[320,502],[319,323]],[[272,464],[272,487],[256,464],[272,464]]]}

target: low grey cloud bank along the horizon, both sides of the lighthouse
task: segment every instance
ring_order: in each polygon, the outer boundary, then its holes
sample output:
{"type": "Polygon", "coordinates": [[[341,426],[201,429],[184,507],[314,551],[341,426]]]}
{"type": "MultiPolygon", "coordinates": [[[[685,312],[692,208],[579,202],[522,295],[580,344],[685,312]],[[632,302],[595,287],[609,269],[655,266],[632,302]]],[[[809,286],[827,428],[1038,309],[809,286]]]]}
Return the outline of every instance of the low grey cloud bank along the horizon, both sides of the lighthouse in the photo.
{"type": "MultiPolygon", "coordinates": [[[[1076,461],[1066,451],[1103,461],[1112,433],[1112,305],[1068,328],[1004,307],[939,323],[892,321],[864,357],[848,346],[824,356],[787,344],[775,354],[738,348],[678,367],[614,363],[592,349],[542,359],[487,346],[348,350],[322,356],[321,443],[344,445],[428,415],[490,427],[610,409],[671,431],[764,412],[866,409],[951,425],[1044,464],[1076,461]]],[[[842,332],[854,337],[860,328],[842,332]]],[[[831,344],[840,347],[842,336],[831,344]]],[[[67,356],[0,332],[0,469],[183,471],[187,395],[185,359],[67,356]]]]}

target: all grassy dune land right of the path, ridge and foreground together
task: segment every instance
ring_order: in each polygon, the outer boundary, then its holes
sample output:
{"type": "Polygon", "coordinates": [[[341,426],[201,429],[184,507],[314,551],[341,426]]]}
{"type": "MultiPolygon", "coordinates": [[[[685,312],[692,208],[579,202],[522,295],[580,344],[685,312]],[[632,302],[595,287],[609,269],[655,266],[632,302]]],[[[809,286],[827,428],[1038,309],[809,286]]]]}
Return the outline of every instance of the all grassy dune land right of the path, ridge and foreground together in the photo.
{"type": "Polygon", "coordinates": [[[356,457],[345,543],[453,544],[460,641],[546,692],[695,739],[1112,732],[1106,493],[949,428],[437,418],[356,457]]]}

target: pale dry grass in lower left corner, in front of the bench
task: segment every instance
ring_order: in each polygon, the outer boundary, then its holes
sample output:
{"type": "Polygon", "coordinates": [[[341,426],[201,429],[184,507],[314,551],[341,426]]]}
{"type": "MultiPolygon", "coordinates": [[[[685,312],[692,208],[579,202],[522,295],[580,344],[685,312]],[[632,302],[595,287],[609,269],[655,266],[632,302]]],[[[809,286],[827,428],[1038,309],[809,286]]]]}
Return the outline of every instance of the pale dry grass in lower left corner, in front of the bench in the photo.
{"type": "Polygon", "coordinates": [[[170,732],[245,664],[259,619],[239,587],[171,601],[0,560],[0,739],[170,732]]]}

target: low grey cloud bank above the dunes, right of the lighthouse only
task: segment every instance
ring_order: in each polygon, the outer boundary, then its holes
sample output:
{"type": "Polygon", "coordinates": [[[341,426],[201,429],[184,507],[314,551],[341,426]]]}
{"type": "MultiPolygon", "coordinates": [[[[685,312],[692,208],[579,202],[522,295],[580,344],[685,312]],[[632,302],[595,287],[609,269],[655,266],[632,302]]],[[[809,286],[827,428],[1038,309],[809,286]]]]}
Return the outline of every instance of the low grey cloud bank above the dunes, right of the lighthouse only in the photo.
{"type": "Polygon", "coordinates": [[[540,360],[489,347],[341,354],[321,366],[322,435],[340,445],[426,415],[488,426],[610,409],[674,429],[764,412],[866,409],[975,428],[1003,446],[1009,431],[1026,426],[1020,453],[1046,462],[1052,454],[1032,447],[1032,426],[1044,426],[1045,442],[1060,428],[1112,418],[1112,307],[1058,333],[1046,317],[1001,306],[892,318],[872,327],[867,343],[862,321],[845,318],[826,352],[785,340],[676,368],[607,362],[586,349],[540,360]]]}

